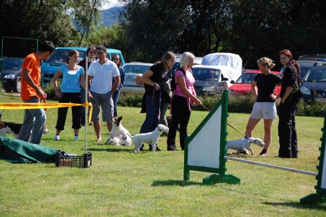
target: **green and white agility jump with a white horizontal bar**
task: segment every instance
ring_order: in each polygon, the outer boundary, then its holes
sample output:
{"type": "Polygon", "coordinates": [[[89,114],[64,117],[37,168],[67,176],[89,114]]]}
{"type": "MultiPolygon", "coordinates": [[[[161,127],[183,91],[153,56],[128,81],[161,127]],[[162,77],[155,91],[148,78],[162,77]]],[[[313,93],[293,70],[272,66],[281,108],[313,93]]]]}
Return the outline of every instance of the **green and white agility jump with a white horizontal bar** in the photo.
{"type": "Polygon", "coordinates": [[[227,117],[228,116],[228,90],[222,94],[222,98],[210,111],[203,122],[198,126],[194,133],[185,140],[185,160],[184,160],[184,180],[189,181],[190,171],[213,172],[203,179],[203,184],[213,185],[216,183],[239,184],[240,179],[231,174],[225,174],[225,164],[227,160],[234,160],[243,163],[250,163],[258,166],[282,169],[291,172],[297,172],[307,175],[316,176],[317,185],[316,193],[309,194],[300,199],[301,204],[316,204],[326,202],[326,161],[324,160],[326,152],[326,115],[324,118],[324,127],[321,129],[321,147],[318,173],[281,167],[271,164],[259,163],[255,161],[243,160],[226,156],[226,137],[227,117]],[[214,141],[214,142],[212,142],[214,141]],[[205,144],[205,148],[203,148],[205,144]]]}

